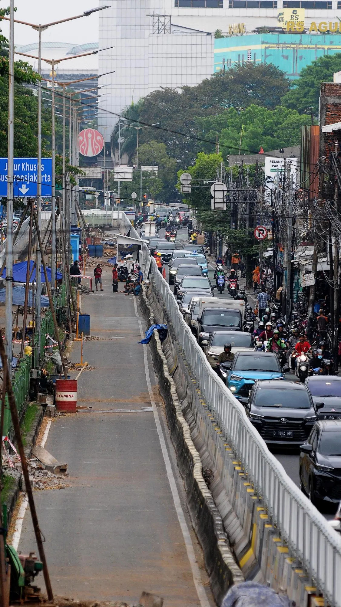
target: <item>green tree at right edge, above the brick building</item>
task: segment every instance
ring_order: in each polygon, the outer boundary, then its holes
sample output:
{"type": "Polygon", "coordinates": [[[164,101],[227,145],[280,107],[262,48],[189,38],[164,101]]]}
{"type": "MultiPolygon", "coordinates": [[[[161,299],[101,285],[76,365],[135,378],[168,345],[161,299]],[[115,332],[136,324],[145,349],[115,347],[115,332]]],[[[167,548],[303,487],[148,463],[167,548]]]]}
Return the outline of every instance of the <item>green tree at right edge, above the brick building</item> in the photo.
{"type": "Polygon", "coordinates": [[[319,115],[320,87],[323,82],[333,82],[334,72],[341,70],[341,53],[325,55],[303,67],[300,77],[294,81],[293,89],[283,97],[286,107],[297,110],[299,114],[309,114],[311,122],[319,115]]]}

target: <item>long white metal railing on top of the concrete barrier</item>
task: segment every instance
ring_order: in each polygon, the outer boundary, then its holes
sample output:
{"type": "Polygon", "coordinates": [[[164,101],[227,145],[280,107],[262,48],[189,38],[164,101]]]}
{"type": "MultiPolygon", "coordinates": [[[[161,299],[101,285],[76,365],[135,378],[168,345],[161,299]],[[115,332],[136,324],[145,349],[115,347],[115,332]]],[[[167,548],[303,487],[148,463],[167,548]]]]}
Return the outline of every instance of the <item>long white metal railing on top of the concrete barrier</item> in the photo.
{"type": "MultiPolygon", "coordinates": [[[[147,249],[145,245],[144,248],[147,249]]],[[[309,572],[325,599],[333,607],[341,607],[341,540],[286,474],[248,421],[242,405],[217,378],[185,324],[173,293],[154,260],[151,261],[151,277],[152,288],[156,289],[166,310],[168,330],[190,364],[206,404],[214,412],[282,540],[309,572]]]]}

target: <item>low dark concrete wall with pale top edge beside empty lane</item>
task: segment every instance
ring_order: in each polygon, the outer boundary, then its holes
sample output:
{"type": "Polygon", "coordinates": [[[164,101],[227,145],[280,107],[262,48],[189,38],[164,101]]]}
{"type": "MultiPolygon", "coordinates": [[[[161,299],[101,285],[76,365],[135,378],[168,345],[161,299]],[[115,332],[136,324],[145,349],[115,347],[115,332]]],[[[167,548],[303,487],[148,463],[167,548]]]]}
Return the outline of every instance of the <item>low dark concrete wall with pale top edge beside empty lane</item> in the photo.
{"type": "MultiPolygon", "coordinates": [[[[145,290],[141,291],[140,307],[148,327],[154,324],[153,310],[148,303],[145,290]]],[[[219,510],[202,476],[202,462],[191,439],[190,428],[182,414],[176,384],[168,371],[167,359],[162,351],[157,331],[154,331],[150,347],[154,368],[159,378],[160,392],[165,402],[177,463],[185,482],[191,521],[204,552],[205,566],[210,576],[214,597],[220,605],[228,588],[243,582],[244,578],[231,552],[219,510]]]]}

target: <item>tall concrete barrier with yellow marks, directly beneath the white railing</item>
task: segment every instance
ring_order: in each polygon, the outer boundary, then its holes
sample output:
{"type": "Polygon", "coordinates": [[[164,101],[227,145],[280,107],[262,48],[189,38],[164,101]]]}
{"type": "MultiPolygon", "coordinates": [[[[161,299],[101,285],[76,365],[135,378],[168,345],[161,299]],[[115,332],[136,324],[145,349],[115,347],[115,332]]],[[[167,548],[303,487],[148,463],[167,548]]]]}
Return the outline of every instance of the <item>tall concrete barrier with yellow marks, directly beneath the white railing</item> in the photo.
{"type": "MultiPolygon", "coordinates": [[[[180,409],[188,423],[194,446],[203,466],[213,473],[210,490],[243,576],[286,592],[292,600],[296,600],[297,605],[305,607],[308,596],[316,594],[311,576],[303,571],[296,555],[280,537],[279,530],[271,521],[255,488],[248,482],[247,475],[220,429],[213,410],[205,403],[153,279],[147,295],[156,322],[166,322],[168,325],[168,337],[163,344],[168,370],[174,379],[180,409]]],[[[159,373],[159,368],[156,370],[159,373]]],[[[169,392],[166,385],[163,391],[165,395],[162,392],[162,396],[166,399],[169,392]]],[[[182,469],[182,475],[186,478],[185,469],[182,469]]]]}

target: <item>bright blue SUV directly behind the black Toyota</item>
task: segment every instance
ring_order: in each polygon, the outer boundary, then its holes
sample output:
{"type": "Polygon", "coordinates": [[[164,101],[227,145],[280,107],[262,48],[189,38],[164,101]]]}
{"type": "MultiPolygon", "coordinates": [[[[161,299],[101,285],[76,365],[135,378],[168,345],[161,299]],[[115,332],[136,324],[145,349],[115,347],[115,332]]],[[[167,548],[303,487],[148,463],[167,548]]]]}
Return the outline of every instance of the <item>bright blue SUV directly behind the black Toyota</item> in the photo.
{"type": "MultiPolygon", "coordinates": [[[[223,363],[228,367],[228,363],[223,363]]],[[[273,352],[237,352],[227,370],[226,385],[236,398],[248,398],[256,379],[284,379],[273,352]]]]}

